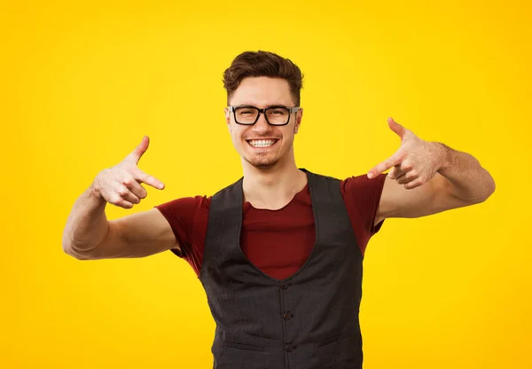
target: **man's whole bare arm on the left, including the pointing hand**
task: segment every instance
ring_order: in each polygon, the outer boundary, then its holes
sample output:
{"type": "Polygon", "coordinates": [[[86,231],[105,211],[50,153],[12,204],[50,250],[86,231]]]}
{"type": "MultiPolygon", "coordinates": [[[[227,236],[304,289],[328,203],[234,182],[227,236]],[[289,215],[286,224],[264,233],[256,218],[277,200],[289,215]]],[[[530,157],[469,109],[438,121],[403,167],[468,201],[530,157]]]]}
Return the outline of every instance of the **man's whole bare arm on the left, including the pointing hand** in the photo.
{"type": "Polygon", "coordinates": [[[132,208],[146,197],[141,182],[158,189],[164,185],[137,168],[149,141],[120,164],[98,174],[75,201],[63,232],[63,250],[80,260],[143,257],[170,248],[180,249],[168,221],[157,208],[107,221],[106,203],[132,208]]]}

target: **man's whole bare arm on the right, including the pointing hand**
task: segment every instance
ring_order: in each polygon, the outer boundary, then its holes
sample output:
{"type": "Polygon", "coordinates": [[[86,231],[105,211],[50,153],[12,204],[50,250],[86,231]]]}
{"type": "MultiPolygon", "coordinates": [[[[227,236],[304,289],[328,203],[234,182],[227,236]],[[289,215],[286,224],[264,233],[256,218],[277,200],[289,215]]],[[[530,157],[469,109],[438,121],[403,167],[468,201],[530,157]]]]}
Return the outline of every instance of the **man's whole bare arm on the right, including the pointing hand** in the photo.
{"type": "Polygon", "coordinates": [[[487,200],[495,181],[473,155],[426,142],[401,125],[388,122],[402,146],[369,177],[392,168],[380,197],[375,224],[385,218],[429,216],[487,200]]]}

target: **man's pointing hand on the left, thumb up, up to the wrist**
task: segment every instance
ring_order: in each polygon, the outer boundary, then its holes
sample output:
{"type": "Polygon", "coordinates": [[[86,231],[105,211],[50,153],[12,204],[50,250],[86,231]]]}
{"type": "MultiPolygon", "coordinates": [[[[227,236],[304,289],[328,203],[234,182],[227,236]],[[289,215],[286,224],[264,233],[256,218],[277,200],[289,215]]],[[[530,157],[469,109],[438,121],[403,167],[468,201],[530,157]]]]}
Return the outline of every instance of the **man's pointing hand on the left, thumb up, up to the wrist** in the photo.
{"type": "Polygon", "coordinates": [[[107,202],[121,208],[133,208],[133,204],[138,204],[147,195],[141,183],[159,190],[164,188],[159,179],[145,174],[137,167],[149,144],[150,138],[143,137],[142,142],[123,161],[98,173],[93,188],[107,202]]]}

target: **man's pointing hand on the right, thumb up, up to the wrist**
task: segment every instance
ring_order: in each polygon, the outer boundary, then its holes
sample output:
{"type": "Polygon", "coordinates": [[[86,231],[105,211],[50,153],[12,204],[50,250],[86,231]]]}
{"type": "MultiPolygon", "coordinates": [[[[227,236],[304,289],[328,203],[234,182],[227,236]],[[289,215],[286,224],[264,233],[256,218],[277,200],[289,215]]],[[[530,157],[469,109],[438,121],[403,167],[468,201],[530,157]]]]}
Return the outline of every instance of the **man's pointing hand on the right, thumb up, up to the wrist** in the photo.
{"type": "Polygon", "coordinates": [[[441,167],[442,151],[435,143],[426,142],[414,135],[392,118],[387,120],[390,130],[401,138],[401,146],[386,161],[382,161],[368,172],[368,178],[374,178],[386,171],[388,177],[410,190],[425,184],[434,177],[441,167]]]}

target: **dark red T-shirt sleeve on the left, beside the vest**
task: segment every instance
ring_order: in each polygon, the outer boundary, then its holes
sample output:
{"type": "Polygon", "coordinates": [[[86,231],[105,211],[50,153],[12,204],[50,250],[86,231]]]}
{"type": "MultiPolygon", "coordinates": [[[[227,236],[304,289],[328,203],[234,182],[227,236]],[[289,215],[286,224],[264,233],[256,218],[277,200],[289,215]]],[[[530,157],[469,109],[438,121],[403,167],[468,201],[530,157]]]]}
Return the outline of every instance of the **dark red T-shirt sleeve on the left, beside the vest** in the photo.
{"type": "Polygon", "coordinates": [[[153,208],[168,220],[181,251],[171,251],[192,265],[196,274],[203,262],[203,250],[207,233],[208,207],[210,198],[206,196],[185,197],[171,200],[153,208]]]}

